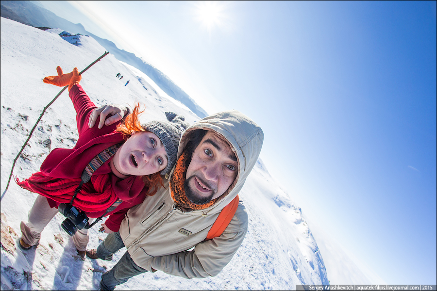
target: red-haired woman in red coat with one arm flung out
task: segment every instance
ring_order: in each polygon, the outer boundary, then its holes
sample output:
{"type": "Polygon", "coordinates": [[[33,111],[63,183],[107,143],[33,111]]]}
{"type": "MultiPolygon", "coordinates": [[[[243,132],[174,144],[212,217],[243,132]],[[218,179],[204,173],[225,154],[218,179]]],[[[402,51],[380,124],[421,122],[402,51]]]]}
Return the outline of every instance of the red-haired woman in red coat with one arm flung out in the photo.
{"type": "MultiPolygon", "coordinates": [[[[168,121],[140,125],[137,104],[124,122],[114,120],[103,127],[102,118],[99,127],[93,128],[96,105],[79,85],[77,68],[63,74],[58,66],[57,71],[58,76],[46,77],[44,82],[68,85],[77,113],[79,139],[73,148],[53,149],[40,172],[24,181],[17,179],[19,186],[39,194],[29,211],[29,222],[21,222],[19,247],[26,250],[37,245],[41,232],[59,208],[68,217],[62,227],[73,236],[79,255],[85,259],[87,231],[93,218],[109,215],[101,231],[118,231],[126,212],[163,186],[163,176],[176,163],[179,139],[188,123],[183,116],[166,113],[168,121]],[[86,218],[90,218],[88,222],[86,218]]],[[[105,107],[104,113],[112,114],[111,110],[105,107]]],[[[126,112],[129,110],[122,106],[114,114],[119,114],[120,120],[126,112]]]]}

